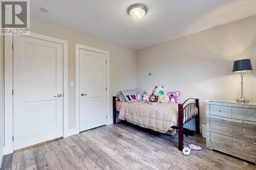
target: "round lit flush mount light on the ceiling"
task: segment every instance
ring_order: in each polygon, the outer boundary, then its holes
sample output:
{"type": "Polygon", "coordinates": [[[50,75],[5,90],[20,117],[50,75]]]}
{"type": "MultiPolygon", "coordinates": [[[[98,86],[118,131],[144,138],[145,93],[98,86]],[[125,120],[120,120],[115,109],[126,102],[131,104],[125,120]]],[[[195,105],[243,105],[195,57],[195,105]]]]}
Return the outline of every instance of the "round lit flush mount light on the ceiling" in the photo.
{"type": "Polygon", "coordinates": [[[143,4],[134,4],[127,10],[128,14],[134,19],[140,19],[146,14],[146,6],[143,4]]]}

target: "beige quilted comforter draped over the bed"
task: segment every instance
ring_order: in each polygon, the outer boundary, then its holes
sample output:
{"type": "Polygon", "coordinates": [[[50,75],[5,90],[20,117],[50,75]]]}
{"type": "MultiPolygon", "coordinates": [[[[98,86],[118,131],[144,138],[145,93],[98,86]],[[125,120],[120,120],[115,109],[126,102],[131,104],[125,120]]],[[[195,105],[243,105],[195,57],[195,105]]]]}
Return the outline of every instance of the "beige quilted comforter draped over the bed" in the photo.
{"type": "Polygon", "coordinates": [[[118,118],[143,128],[166,133],[169,127],[177,126],[178,104],[155,103],[151,105],[145,101],[123,102],[118,118]]]}

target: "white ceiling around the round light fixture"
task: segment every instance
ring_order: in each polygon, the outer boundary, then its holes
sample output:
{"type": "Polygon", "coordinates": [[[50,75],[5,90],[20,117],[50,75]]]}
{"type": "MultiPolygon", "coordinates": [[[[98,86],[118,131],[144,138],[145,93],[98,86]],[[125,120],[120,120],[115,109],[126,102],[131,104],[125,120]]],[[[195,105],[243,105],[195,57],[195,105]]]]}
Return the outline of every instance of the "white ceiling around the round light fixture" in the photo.
{"type": "Polygon", "coordinates": [[[30,6],[32,18],[135,50],[256,15],[256,0],[32,0],[30,6]],[[127,14],[135,3],[148,9],[142,19],[127,14]]]}

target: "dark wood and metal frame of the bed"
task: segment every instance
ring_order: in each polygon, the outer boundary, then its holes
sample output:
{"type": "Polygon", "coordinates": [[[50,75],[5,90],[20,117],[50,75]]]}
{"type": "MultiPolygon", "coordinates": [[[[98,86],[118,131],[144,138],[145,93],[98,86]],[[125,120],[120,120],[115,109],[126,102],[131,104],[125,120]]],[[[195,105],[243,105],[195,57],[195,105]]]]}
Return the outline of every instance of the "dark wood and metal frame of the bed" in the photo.
{"type": "MultiPolygon", "coordinates": [[[[116,103],[119,102],[117,96],[113,96],[113,124],[116,124],[116,103]]],[[[200,107],[199,99],[189,98],[183,104],[178,104],[178,133],[179,133],[179,150],[183,149],[183,125],[191,119],[196,119],[196,133],[200,133],[200,107]]]]}

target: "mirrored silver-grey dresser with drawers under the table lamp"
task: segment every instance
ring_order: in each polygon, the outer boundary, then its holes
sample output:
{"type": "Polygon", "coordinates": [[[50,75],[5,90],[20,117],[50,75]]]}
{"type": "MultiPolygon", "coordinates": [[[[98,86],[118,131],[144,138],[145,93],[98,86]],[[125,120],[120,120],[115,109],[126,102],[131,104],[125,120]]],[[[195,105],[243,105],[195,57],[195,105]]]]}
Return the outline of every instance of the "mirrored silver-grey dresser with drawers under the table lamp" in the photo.
{"type": "Polygon", "coordinates": [[[256,102],[206,102],[206,148],[255,163],[256,102]]]}

